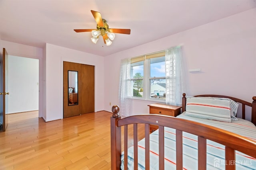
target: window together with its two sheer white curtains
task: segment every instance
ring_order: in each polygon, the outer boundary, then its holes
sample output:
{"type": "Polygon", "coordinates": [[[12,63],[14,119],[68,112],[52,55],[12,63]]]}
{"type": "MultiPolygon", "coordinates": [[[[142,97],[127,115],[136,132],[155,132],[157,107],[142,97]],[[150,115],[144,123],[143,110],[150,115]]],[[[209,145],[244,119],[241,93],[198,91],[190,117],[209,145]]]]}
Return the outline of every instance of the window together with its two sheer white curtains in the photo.
{"type": "Polygon", "coordinates": [[[186,93],[182,70],[182,47],[139,57],[122,59],[119,82],[119,106],[122,117],[132,115],[132,99],[165,102],[180,106],[186,93]]]}

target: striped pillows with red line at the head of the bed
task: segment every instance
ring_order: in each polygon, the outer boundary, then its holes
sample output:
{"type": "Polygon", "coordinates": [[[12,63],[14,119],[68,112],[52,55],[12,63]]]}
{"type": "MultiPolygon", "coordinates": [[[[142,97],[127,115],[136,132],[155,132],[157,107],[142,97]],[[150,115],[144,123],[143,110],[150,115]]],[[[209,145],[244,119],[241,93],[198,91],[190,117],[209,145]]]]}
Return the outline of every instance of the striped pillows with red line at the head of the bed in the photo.
{"type": "MultiPolygon", "coordinates": [[[[202,119],[212,119],[217,121],[231,122],[237,120],[234,110],[237,107],[228,98],[193,97],[187,96],[186,115],[202,119]]],[[[236,103],[236,102],[235,102],[236,103]]]]}

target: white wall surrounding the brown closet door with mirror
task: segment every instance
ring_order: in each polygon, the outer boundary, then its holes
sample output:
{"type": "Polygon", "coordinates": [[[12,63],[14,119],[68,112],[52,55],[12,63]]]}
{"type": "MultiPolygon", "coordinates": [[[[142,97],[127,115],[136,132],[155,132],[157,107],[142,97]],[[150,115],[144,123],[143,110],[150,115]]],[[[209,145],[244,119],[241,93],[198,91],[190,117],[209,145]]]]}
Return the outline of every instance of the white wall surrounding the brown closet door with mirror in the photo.
{"type": "MultiPolygon", "coordinates": [[[[44,49],[44,101],[46,121],[63,118],[63,61],[95,66],[95,111],[104,110],[104,58],[52,44],[44,49]]],[[[79,74],[79,73],[78,73],[79,74]]]]}

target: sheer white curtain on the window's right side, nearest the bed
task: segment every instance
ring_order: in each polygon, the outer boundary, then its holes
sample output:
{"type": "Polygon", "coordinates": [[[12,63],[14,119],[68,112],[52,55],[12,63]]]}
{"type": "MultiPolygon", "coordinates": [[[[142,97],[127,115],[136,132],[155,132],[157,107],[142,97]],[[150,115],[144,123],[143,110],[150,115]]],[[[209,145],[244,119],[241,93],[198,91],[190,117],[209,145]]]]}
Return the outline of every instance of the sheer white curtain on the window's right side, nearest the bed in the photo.
{"type": "Polygon", "coordinates": [[[180,106],[185,81],[182,69],[182,48],[180,46],[166,49],[166,104],[180,106]]]}

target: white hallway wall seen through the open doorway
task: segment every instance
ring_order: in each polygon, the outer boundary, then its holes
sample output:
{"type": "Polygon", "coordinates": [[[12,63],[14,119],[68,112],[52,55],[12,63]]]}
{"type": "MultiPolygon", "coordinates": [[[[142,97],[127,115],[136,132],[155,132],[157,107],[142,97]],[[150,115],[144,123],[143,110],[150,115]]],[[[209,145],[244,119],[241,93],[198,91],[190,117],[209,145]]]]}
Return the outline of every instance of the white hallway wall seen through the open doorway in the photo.
{"type": "Polygon", "coordinates": [[[8,113],[38,110],[39,61],[8,56],[8,113]]]}

